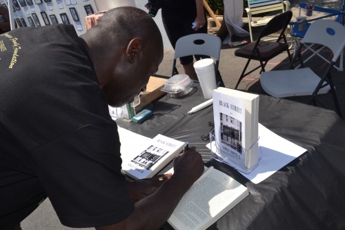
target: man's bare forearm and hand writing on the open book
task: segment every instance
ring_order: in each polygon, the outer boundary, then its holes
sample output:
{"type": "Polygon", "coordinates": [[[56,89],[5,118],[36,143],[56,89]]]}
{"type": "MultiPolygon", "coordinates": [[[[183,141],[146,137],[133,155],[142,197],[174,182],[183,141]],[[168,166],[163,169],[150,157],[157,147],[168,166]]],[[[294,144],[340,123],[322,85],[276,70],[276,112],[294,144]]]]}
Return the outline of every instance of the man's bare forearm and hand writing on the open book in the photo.
{"type": "Polygon", "coordinates": [[[179,154],[174,160],[174,175],[152,195],[135,203],[135,211],[117,224],[96,227],[97,230],[159,229],[168,220],[182,196],[204,171],[204,162],[195,148],[179,154]]]}

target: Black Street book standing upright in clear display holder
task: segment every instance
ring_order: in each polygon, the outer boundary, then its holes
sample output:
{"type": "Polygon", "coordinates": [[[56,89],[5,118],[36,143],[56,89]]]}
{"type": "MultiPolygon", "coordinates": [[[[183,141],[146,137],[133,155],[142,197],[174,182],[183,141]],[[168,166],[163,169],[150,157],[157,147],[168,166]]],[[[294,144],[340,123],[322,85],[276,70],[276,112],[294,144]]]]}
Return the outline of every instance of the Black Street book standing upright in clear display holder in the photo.
{"type": "Polygon", "coordinates": [[[244,173],[259,162],[259,95],[230,88],[213,90],[215,146],[223,162],[244,173]]]}

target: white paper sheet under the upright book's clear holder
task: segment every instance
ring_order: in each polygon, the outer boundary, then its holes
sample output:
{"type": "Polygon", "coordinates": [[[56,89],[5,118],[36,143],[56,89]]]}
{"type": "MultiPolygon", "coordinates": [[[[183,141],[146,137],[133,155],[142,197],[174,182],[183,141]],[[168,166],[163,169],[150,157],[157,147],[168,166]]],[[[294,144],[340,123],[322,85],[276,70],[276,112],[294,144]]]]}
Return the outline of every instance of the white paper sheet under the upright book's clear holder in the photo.
{"type": "MultiPolygon", "coordinates": [[[[259,137],[259,148],[262,152],[259,165],[248,174],[239,171],[239,173],[254,184],[262,182],[279,169],[282,169],[286,164],[299,157],[299,155],[306,152],[305,148],[280,137],[262,124],[259,124],[259,137]]],[[[210,144],[206,146],[210,148],[210,144]]],[[[212,149],[216,149],[215,146],[212,149]]]]}

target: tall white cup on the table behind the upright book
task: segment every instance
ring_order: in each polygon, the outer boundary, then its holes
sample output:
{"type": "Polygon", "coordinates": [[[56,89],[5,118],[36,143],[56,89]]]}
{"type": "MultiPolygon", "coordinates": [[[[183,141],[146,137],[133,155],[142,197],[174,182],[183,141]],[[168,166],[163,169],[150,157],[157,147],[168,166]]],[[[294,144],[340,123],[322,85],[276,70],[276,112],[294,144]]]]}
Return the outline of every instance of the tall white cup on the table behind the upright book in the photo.
{"type": "Polygon", "coordinates": [[[205,58],[195,61],[195,73],[201,86],[202,93],[206,99],[212,98],[212,90],[217,88],[215,80],[215,64],[212,58],[205,58]]]}

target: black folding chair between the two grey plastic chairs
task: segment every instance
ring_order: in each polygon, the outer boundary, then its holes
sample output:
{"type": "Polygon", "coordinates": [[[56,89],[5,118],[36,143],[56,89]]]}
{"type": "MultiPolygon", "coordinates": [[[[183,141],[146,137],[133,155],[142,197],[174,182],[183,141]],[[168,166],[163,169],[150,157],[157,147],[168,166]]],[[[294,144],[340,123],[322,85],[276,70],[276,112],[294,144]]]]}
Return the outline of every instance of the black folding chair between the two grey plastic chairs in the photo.
{"type": "Polygon", "coordinates": [[[288,53],[288,58],[291,61],[290,51],[288,50],[288,42],[286,41],[285,36],[285,30],[291,20],[291,17],[293,17],[293,12],[290,10],[273,17],[273,19],[268,21],[255,43],[250,43],[235,50],[235,56],[248,59],[246,66],[244,66],[244,70],[242,71],[242,74],[235,86],[235,89],[237,89],[237,86],[239,86],[239,83],[244,77],[246,77],[246,75],[253,73],[258,68],[261,68],[260,73],[265,72],[267,62],[282,52],[286,51],[288,53]],[[275,32],[279,32],[279,37],[277,40],[262,41],[264,37],[272,35],[275,32]],[[260,65],[246,73],[248,65],[252,59],[259,61],[260,65]]]}

